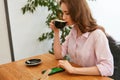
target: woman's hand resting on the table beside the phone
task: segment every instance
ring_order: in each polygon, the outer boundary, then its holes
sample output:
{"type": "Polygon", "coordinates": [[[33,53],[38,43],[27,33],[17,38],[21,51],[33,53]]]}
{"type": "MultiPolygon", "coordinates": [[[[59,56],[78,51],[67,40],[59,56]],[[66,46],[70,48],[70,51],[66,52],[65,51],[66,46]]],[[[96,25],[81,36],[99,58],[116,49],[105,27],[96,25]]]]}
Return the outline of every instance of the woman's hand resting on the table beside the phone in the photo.
{"type": "Polygon", "coordinates": [[[64,68],[69,73],[74,71],[74,67],[67,60],[59,60],[58,66],[64,68]]]}

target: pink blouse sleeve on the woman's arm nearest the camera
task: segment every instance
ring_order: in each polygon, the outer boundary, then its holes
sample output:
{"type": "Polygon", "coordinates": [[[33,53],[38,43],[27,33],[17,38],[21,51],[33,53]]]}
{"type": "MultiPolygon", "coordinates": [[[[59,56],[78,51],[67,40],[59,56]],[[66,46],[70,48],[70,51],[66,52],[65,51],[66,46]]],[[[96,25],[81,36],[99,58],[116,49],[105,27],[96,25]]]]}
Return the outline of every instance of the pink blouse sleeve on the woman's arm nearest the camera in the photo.
{"type": "Polygon", "coordinates": [[[94,32],[96,66],[102,76],[112,76],[114,72],[113,56],[106,35],[101,30],[94,32]]]}

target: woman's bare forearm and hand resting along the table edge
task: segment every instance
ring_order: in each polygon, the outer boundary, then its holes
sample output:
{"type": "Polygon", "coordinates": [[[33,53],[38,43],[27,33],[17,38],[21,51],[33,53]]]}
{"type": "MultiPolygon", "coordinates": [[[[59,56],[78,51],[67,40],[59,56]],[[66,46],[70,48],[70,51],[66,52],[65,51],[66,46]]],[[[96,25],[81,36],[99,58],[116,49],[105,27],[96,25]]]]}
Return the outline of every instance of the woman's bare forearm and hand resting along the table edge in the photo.
{"type": "Polygon", "coordinates": [[[100,75],[100,72],[96,66],[92,67],[73,67],[67,60],[59,60],[60,67],[64,68],[71,74],[81,75],[100,75]]]}

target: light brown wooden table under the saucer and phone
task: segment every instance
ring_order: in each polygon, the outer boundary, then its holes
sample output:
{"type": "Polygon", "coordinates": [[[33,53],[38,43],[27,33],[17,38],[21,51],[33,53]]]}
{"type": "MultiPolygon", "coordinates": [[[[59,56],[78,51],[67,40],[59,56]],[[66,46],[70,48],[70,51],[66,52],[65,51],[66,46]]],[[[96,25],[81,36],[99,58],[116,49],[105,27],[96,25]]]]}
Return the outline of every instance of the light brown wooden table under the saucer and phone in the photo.
{"type": "MultiPolygon", "coordinates": [[[[35,80],[41,75],[41,71],[53,68],[58,60],[54,55],[45,53],[42,55],[26,58],[23,60],[0,65],[0,80],[35,80]],[[25,65],[25,61],[31,58],[40,58],[42,64],[34,67],[25,65]]],[[[69,74],[66,71],[49,76],[49,80],[112,80],[101,76],[82,76],[69,74]]]]}

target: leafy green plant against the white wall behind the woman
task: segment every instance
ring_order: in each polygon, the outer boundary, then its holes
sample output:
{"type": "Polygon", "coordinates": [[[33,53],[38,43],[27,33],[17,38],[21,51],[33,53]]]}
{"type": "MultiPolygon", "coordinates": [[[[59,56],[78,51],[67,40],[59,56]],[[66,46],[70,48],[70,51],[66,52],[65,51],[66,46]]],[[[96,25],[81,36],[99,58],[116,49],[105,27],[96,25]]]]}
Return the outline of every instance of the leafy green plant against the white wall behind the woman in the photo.
{"type": "MultiPolygon", "coordinates": [[[[44,7],[48,8],[49,14],[46,19],[46,24],[48,26],[49,26],[49,23],[51,20],[62,19],[62,17],[61,17],[62,12],[60,10],[57,0],[28,0],[27,4],[24,7],[22,7],[21,9],[22,9],[23,14],[25,14],[28,11],[33,13],[38,6],[44,6],[44,7]]],[[[61,33],[60,39],[61,39],[61,43],[63,43],[65,41],[65,37],[70,32],[70,28],[67,27],[67,28],[61,29],[61,32],[62,33],[61,33]]],[[[51,32],[43,33],[38,39],[39,39],[39,41],[44,41],[46,39],[52,39],[53,37],[54,37],[53,31],[51,31],[51,32]]],[[[54,52],[53,47],[51,50],[49,50],[49,52],[50,53],[54,52]]]]}

